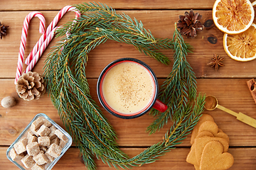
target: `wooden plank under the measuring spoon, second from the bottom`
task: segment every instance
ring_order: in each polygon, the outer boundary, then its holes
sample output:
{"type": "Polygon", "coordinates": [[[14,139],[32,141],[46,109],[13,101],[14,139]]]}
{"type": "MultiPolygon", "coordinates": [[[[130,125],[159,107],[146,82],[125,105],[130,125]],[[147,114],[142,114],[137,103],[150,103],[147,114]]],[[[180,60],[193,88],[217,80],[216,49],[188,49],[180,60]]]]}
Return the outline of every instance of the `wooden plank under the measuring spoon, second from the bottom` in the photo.
{"type": "MultiPolygon", "coordinates": [[[[242,112],[246,115],[256,118],[255,103],[247,89],[246,81],[248,79],[198,79],[198,92],[207,95],[214,95],[218,98],[219,104],[233,110],[242,112]],[[214,86],[213,86],[214,84],[214,86]]],[[[164,79],[159,79],[162,84],[164,79]]],[[[96,84],[97,79],[88,79],[90,84],[90,92],[92,98],[100,103],[97,99],[96,84]]],[[[53,107],[50,98],[44,95],[38,101],[23,101],[18,98],[15,92],[13,79],[0,79],[0,100],[5,96],[15,96],[17,105],[13,108],[0,107],[0,145],[11,145],[18,137],[21,131],[32,120],[37,113],[46,113],[56,123],[62,125],[56,109],[53,107]]],[[[120,146],[150,146],[162,140],[164,133],[169,130],[166,125],[160,132],[154,135],[148,135],[146,128],[153,122],[154,118],[148,114],[133,120],[123,120],[116,118],[107,113],[100,106],[103,114],[110,121],[118,135],[118,144],[120,146]]],[[[230,137],[230,146],[255,146],[256,145],[256,129],[245,125],[236,120],[233,115],[224,113],[216,109],[215,111],[204,111],[213,115],[215,122],[230,137]]],[[[183,140],[181,146],[191,146],[190,136],[183,140]]]]}

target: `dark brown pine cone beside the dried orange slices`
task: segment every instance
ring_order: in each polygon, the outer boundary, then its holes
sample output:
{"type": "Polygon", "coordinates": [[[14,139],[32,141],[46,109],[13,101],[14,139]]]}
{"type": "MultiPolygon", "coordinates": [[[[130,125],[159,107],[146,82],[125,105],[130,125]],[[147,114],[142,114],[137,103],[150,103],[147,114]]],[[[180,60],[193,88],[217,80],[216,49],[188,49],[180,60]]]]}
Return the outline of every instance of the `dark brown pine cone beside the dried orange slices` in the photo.
{"type": "Polygon", "coordinates": [[[203,30],[204,26],[199,21],[202,16],[199,13],[194,13],[193,10],[186,11],[185,16],[179,16],[180,20],[177,23],[177,28],[180,29],[180,33],[187,35],[188,38],[196,37],[196,30],[203,30]]]}

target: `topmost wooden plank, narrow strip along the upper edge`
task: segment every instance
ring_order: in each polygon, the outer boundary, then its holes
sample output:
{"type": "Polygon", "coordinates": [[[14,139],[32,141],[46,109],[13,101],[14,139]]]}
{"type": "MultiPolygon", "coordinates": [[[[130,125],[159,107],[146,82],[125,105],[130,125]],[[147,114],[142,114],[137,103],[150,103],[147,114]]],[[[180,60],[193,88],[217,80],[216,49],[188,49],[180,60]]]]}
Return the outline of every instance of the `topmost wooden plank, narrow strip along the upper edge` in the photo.
{"type": "MultiPolygon", "coordinates": [[[[189,0],[183,0],[183,1],[164,1],[164,0],[155,0],[155,1],[146,1],[146,0],[129,0],[129,1],[115,1],[115,0],[102,0],[100,3],[107,4],[107,6],[112,6],[112,8],[116,9],[211,9],[213,8],[215,0],[198,0],[198,1],[189,1],[189,0]]],[[[24,11],[24,10],[32,10],[32,11],[38,11],[38,10],[60,10],[66,5],[73,5],[73,4],[81,4],[84,2],[90,2],[90,1],[29,1],[29,0],[23,0],[20,1],[7,1],[2,0],[0,1],[0,11],[24,11]],[[18,3],[18,5],[17,5],[18,3]]],[[[91,1],[93,2],[93,1],[91,1]]],[[[97,1],[98,3],[98,1],[97,1]]]]}

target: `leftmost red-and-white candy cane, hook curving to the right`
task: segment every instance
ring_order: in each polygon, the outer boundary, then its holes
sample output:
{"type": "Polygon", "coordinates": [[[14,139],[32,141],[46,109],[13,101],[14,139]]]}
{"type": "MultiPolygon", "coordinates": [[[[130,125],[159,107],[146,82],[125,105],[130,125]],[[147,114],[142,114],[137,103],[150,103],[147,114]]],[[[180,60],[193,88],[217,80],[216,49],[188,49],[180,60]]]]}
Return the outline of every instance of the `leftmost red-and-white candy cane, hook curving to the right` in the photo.
{"type": "Polygon", "coordinates": [[[40,20],[40,26],[39,26],[39,33],[44,33],[46,29],[46,19],[44,18],[43,14],[38,11],[33,11],[31,13],[28,13],[26,16],[24,22],[23,22],[23,28],[21,33],[21,45],[18,52],[18,66],[16,71],[16,78],[14,81],[14,84],[17,83],[18,77],[21,77],[23,62],[24,62],[24,53],[26,48],[26,38],[28,36],[28,24],[31,21],[33,17],[38,17],[40,20]]]}

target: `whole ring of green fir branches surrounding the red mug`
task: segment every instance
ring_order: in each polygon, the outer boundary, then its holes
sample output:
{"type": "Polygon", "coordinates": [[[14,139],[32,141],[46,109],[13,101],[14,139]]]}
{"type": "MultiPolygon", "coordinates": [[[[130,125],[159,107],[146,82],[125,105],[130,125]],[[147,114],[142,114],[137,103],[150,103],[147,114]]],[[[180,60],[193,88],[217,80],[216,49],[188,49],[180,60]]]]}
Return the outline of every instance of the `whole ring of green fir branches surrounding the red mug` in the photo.
{"type": "Polygon", "coordinates": [[[66,23],[57,30],[58,36],[65,35],[67,31],[70,35],[58,42],[48,54],[44,67],[46,89],[58,109],[60,119],[79,147],[87,169],[96,169],[93,157],[102,159],[109,166],[123,169],[155,162],[186,138],[203,112],[205,96],[199,94],[196,97],[196,77],[186,61],[191,47],[184,42],[177,29],[173,39],[156,39],[143,28],[142,22],[132,20],[124,13],[118,14],[106,5],[89,3],[75,7],[82,16],[76,23],[66,23]],[[150,114],[156,120],[147,130],[151,134],[169,120],[174,123],[163,141],[132,158],[117,146],[117,135],[92,100],[87,84],[85,67],[88,53],[106,40],[134,45],[139,52],[164,64],[168,64],[169,59],[159,50],[174,50],[173,69],[159,94],[159,99],[167,103],[168,109],[164,113],[151,110],[150,114]]]}

